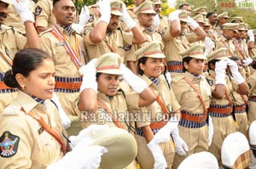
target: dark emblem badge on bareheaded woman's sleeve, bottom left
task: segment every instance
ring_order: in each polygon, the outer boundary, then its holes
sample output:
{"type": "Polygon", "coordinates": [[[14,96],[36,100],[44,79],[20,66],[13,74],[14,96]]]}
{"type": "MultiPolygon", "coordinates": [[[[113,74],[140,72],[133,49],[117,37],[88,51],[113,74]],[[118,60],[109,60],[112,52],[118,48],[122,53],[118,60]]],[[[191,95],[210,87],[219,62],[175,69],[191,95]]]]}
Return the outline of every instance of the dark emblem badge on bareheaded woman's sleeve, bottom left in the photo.
{"type": "Polygon", "coordinates": [[[9,158],[17,153],[20,138],[9,131],[3,132],[0,137],[0,156],[9,158]]]}

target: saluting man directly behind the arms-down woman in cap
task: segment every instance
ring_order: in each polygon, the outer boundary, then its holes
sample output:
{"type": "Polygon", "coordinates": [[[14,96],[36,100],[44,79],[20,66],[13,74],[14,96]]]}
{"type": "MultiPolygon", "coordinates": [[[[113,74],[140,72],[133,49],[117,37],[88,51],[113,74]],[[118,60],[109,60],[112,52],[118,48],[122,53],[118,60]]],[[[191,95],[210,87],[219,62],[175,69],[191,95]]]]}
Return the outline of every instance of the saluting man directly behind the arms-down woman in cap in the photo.
{"type": "Polygon", "coordinates": [[[195,20],[188,16],[186,11],[180,12],[178,17],[181,25],[181,33],[179,36],[172,37],[168,31],[162,33],[166,46],[164,53],[166,55],[167,67],[172,76],[179,76],[183,73],[182,56],[180,56],[179,53],[183,52],[186,48],[190,48],[191,42],[197,42],[206,37],[206,33],[195,20]],[[185,34],[184,31],[187,25],[193,27],[195,33],[185,34]]]}

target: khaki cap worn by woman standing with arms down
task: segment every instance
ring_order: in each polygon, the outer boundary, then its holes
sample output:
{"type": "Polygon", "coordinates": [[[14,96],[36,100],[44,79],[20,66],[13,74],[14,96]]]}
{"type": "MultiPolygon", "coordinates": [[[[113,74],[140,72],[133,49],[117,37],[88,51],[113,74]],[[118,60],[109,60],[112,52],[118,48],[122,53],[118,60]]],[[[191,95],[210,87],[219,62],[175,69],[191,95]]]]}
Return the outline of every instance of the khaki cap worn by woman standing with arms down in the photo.
{"type": "Polygon", "coordinates": [[[207,57],[204,55],[204,49],[205,49],[205,45],[198,44],[191,48],[186,49],[182,53],[179,53],[179,55],[181,55],[183,59],[186,57],[191,57],[195,59],[207,59],[207,57]]]}

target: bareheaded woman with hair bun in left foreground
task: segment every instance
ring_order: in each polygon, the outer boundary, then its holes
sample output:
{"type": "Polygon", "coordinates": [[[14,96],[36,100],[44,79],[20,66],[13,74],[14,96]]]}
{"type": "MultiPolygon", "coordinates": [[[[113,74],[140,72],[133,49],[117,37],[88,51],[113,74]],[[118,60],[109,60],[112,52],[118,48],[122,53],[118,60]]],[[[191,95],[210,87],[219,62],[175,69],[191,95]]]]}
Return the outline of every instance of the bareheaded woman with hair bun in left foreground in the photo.
{"type": "Polygon", "coordinates": [[[23,49],[15,55],[4,82],[20,91],[0,117],[1,169],[43,169],[66,153],[67,140],[62,133],[67,133],[55,104],[49,100],[54,92],[54,74],[54,63],[42,50],[23,49]]]}

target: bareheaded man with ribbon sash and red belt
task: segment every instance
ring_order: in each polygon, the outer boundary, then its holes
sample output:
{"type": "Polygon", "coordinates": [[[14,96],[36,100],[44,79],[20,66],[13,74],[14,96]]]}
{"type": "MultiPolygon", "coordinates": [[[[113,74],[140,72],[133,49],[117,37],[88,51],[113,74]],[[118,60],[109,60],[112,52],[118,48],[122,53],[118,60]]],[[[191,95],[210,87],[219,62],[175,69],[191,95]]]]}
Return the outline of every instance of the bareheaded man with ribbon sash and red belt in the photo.
{"type": "Polygon", "coordinates": [[[57,24],[40,36],[43,49],[55,62],[55,93],[60,99],[63,110],[73,121],[71,127],[67,129],[70,135],[76,135],[81,129],[75,100],[79,97],[82,82],[82,73],[79,69],[87,60],[83,37],[71,27],[75,13],[73,1],[53,1],[53,14],[57,24]]]}

